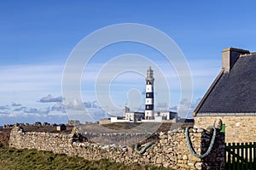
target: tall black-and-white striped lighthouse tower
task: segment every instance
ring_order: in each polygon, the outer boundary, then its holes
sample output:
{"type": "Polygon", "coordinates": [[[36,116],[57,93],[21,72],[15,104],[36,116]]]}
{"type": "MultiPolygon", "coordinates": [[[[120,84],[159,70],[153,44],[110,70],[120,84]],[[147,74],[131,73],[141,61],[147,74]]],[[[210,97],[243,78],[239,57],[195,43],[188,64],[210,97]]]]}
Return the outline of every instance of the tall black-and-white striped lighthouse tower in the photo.
{"type": "Polygon", "coordinates": [[[145,119],[154,120],[154,77],[150,66],[146,77],[145,119]]]}

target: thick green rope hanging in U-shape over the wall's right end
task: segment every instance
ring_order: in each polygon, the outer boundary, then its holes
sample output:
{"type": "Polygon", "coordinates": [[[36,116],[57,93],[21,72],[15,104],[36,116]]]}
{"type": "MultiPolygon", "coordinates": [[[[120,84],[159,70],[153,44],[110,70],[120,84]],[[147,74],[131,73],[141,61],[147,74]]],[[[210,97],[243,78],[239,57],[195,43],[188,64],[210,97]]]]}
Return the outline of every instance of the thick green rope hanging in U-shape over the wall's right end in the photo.
{"type": "Polygon", "coordinates": [[[215,138],[216,138],[216,128],[211,126],[211,128],[213,128],[212,140],[211,140],[211,143],[210,143],[210,145],[207,149],[207,152],[204,153],[203,155],[199,155],[199,154],[195,153],[195,150],[194,150],[194,148],[191,144],[191,141],[189,139],[189,128],[190,127],[186,127],[185,136],[186,136],[187,144],[189,146],[189,150],[190,150],[191,154],[193,156],[197,157],[197,158],[203,158],[203,157],[208,156],[210,154],[210,152],[212,151],[212,147],[213,147],[213,144],[214,144],[214,141],[215,141],[215,138]]]}

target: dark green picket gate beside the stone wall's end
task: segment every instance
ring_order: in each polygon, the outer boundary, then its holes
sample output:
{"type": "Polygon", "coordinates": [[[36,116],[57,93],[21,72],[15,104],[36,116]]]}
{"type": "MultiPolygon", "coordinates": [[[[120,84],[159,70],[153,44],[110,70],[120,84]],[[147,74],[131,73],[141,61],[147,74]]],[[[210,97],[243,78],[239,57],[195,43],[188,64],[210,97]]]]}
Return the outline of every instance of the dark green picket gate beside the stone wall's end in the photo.
{"type": "Polygon", "coordinates": [[[256,142],[225,144],[225,169],[256,169],[256,142]]]}

